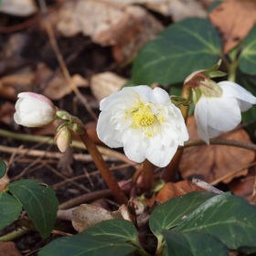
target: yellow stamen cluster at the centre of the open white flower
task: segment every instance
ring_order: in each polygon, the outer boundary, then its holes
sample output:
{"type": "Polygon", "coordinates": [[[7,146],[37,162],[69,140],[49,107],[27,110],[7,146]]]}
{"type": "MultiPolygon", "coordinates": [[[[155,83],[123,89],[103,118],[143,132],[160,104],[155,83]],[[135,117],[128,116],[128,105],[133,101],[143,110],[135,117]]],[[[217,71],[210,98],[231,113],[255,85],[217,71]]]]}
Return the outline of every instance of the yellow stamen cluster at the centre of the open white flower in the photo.
{"type": "MultiPolygon", "coordinates": [[[[163,112],[152,112],[150,105],[144,102],[138,102],[135,107],[132,107],[130,112],[125,112],[126,115],[132,113],[132,124],[130,127],[141,131],[140,128],[144,128],[145,137],[152,137],[158,131],[161,133],[161,127],[165,127],[161,123],[165,123],[163,112]]],[[[127,117],[127,116],[126,116],[127,117]]],[[[126,119],[125,117],[125,119],[126,119]]]]}

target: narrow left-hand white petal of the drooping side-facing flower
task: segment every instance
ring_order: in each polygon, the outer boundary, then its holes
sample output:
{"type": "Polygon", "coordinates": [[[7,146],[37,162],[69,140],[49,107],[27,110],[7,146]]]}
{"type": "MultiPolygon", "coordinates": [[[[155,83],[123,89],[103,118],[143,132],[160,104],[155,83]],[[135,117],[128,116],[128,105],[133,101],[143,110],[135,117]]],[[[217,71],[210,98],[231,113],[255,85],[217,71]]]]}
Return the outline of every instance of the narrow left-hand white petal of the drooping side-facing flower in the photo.
{"type": "Polygon", "coordinates": [[[201,97],[195,108],[195,118],[197,122],[197,133],[209,144],[208,140],[208,102],[206,97],[201,97]]]}

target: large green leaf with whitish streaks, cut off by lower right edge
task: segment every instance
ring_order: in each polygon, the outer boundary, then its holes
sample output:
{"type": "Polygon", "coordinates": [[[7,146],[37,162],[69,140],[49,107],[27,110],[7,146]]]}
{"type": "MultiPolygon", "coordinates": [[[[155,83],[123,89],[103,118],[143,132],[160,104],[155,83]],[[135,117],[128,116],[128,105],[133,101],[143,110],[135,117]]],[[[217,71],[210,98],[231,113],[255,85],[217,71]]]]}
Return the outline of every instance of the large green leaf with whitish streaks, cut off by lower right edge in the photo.
{"type": "Polygon", "coordinates": [[[211,197],[176,227],[221,240],[229,250],[256,248],[256,208],[245,199],[224,193],[211,197]]]}

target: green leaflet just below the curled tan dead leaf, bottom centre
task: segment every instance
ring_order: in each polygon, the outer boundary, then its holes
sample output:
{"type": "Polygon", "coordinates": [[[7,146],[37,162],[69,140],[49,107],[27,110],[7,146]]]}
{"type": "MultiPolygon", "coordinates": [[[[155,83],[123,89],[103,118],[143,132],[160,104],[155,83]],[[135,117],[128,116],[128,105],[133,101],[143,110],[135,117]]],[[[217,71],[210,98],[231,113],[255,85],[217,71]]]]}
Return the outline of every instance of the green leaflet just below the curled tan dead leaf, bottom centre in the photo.
{"type": "Polygon", "coordinates": [[[132,241],[137,243],[137,230],[131,221],[125,219],[110,219],[101,221],[89,229],[80,232],[81,235],[91,236],[97,240],[107,238],[115,241],[132,241]]]}

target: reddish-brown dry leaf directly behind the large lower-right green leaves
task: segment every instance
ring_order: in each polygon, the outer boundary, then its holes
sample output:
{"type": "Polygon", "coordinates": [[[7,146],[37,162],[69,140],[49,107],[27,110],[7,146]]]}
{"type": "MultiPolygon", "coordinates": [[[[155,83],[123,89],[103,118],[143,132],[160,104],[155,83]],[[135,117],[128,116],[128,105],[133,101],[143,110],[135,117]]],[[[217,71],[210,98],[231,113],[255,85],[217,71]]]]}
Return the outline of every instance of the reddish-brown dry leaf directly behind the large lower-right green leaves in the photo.
{"type": "Polygon", "coordinates": [[[201,187],[197,187],[192,184],[191,181],[188,180],[181,180],[176,183],[168,182],[165,184],[157,194],[156,197],[151,198],[148,201],[145,201],[147,206],[152,206],[155,200],[159,200],[162,203],[168,201],[173,197],[180,197],[192,191],[206,191],[201,187]]]}

